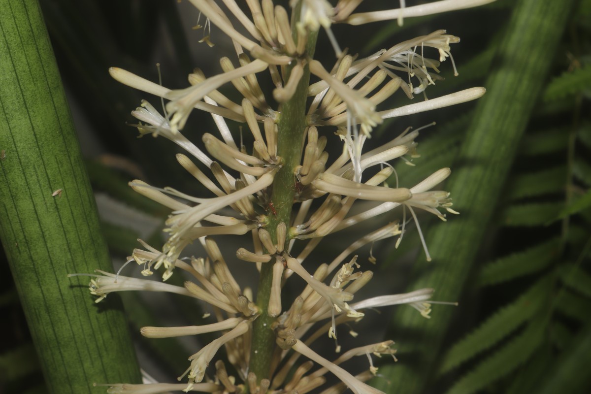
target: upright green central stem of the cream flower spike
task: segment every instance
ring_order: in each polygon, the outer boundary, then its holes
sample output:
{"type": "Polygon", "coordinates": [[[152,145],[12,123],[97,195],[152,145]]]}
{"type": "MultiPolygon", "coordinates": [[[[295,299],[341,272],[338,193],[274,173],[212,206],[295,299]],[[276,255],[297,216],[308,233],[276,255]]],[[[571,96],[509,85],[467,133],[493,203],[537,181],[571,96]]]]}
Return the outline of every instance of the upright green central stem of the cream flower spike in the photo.
{"type": "MultiPolygon", "coordinates": [[[[316,37],[316,33],[310,33],[309,35],[307,43],[307,57],[309,58],[314,56],[316,37]]],[[[285,76],[285,80],[287,78],[288,76],[285,76]]],[[[269,214],[266,226],[275,242],[277,242],[277,224],[283,222],[288,225],[290,223],[291,208],[296,194],[294,171],[301,162],[304,132],[307,127],[306,99],[308,97],[309,82],[310,69],[305,66],[296,93],[280,107],[277,155],[281,157],[283,164],[273,180],[271,203],[274,211],[269,214]]],[[[285,242],[288,241],[289,235],[285,242]]],[[[267,314],[269,297],[271,296],[272,274],[273,263],[263,263],[256,294],[256,305],[261,314],[252,324],[250,361],[250,370],[255,373],[258,381],[269,378],[271,358],[275,349],[275,334],[271,330],[271,324],[275,318],[267,314]]]]}

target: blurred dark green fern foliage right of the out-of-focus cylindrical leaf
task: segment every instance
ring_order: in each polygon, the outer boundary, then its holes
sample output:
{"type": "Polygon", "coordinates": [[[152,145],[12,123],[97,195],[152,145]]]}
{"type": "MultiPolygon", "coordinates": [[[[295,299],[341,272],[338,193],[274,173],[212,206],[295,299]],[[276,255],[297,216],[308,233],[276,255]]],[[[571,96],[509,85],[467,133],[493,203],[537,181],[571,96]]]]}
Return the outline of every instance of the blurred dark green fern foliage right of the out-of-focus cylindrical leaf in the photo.
{"type": "Polygon", "coordinates": [[[479,268],[468,290],[488,305],[482,323],[441,359],[448,394],[589,390],[580,370],[589,362],[581,347],[591,320],[591,30],[577,20],[590,4],[581,2],[571,21],[570,39],[586,43],[586,53],[559,61],[556,69],[574,69],[544,87],[540,108],[548,110],[530,119],[489,229],[487,250],[498,257],[479,268]],[[499,308],[495,296],[509,301],[499,308]]]}

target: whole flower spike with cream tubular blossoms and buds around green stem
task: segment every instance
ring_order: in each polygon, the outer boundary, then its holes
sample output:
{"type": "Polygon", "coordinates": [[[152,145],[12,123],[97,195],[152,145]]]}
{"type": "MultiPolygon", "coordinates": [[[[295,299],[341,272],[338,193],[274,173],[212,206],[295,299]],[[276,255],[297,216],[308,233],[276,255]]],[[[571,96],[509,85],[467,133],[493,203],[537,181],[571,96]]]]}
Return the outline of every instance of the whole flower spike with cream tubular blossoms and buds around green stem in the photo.
{"type": "MultiPolygon", "coordinates": [[[[400,9],[363,14],[354,13],[361,0],[336,4],[292,0],[287,9],[272,0],[247,0],[247,7],[242,8],[235,0],[190,1],[206,18],[207,31],[217,28],[232,39],[235,53],[220,60],[223,73],[206,77],[195,70],[189,75],[189,87],[170,90],[122,69],[110,71],[116,80],[168,100],[163,113],[143,101],[132,112],[139,121],[137,128],[141,134],[163,136],[182,146],[188,155],[178,154],[179,164],[212,193],[209,198],[197,198],[170,187],[132,181],[134,190],[169,207],[172,213],[166,221],[168,239],[163,248],[142,241],[142,248],[134,250],[129,262],[141,265],[143,275],[162,270],[163,281],[178,269],[193,280],[175,286],[98,272],[92,275],[90,290],[99,297],[97,301],[110,292],[126,290],[166,291],[200,299],[214,312],[210,324],[144,327],[141,333],[152,338],[211,332],[218,336],[189,358],[187,370],[179,377],[186,383],[118,383],[109,385],[109,392],[161,393],[182,388],[187,392],[248,389],[252,394],[304,394],[323,386],[327,372],[342,381],[327,388],[327,393],[344,388],[355,393],[379,392],[364,383],[376,373],[370,355],[393,355],[392,341],[362,343],[333,361],[313,350],[314,341],[322,336],[336,339],[337,326],[363,318],[367,308],[408,304],[428,317],[433,289],[356,298],[372,278],[372,271],[360,271],[356,250],[388,237],[398,237],[400,242],[405,220],[363,234],[330,263],[319,265],[314,248],[323,237],[398,206],[410,212],[415,222],[416,209],[443,220],[445,211],[456,213],[450,208],[449,193],[433,190],[450,175],[448,168],[410,188],[385,185],[393,172],[389,161],[408,161],[416,155],[418,130],[399,131],[390,142],[369,151],[363,146],[372,129],[385,118],[456,105],[482,96],[485,89],[474,87],[426,99],[424,90],[441,80],[440,62],[452,60],[450,45],[459,42],[444,30],[356,58],[340,50],[330,28],[334,23],[384,19],[401,23],[405,15],[433,14],[489,1],[444,0],[407,8],[401,1],[400,9]],[[235,29],[233,24],[241,28],[235,29]],[[329,35],[335,64],[322,64],[313,57],[319,30],[329,35]],[[435,58],[428,57],[430,51],[435,58]],[[310,75],[315,78],[311,84],[310,75]],[[262,92],[258,83],[262,77],[271,77],[275,85],[272,92],[262,92]],[[218,90],[229,83],[243,96],[241,102],[233,102],[218,90]],[[382,105],[399,90],[409,99],[421,97],[401,108],[382,105]],[[279,103],[276,108],[269,103],[270,95],[279,103]],[[306,107],[308,97],[310,105],[306,107]],[[207,153],[182,133],[193,109],[210,112],[217,125],[217,133],[202,133],[207,153]],[[246,123],[254,143],[238,146],[225,119],[246,123]],[[342,154],[329,158],[324,148],[333,139],[342,141],[342,154]],[[195,161],[207,170],[200,170],[195,161]],[[312,204],[313,200],[320,203],[312,204]],[[375,203],[371,209],[349,214],[357,200],[375,203]],[[228,253],[223,235],[249,237],[252,248],[228,253]],[[304,245],[294,249],[297,240],[304,245]],[[191,257],[187,262],[183,250],[196,241],[202,243],[207,255],[191,257]],[[236,258],[243,261],[245,269],[259,271],[256,294],[239,284],[230,272],[226,259],[236,258]],[[304,281],[307,286],[296,298],[285,299],[281,288],[291,276],[295,276],[291,280],[304,281]],[[225,361],[216,358],[222,346],[227,354],[225,361]],[[368,370],[356,376],[339,366],[354,356],[370,359],[368,370]],[[226,363],[232,364],[238,376],[229,376],[226,363]],[[204,380],[207,383],[202,383],[204,380]]],[[[209,35],[202,41],[210,43],[209,35]]],[[[417,230],[420,233],[418,222],[417,230]]],[[[422,234],[421,240],[430,259],[422,234]]]]}

